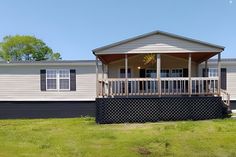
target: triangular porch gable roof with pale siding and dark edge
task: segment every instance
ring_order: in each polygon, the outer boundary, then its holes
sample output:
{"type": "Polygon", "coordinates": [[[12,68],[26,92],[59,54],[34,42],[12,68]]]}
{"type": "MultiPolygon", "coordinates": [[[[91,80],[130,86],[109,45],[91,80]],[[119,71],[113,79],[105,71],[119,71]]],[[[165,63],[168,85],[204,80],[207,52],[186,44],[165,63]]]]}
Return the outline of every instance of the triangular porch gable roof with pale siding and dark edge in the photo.
{"type": "Polygon", "coordinates": [[[219,53],[225,47],[163,31],[154,31],[92,50],[95,55],[140,53],[219,53]]]}

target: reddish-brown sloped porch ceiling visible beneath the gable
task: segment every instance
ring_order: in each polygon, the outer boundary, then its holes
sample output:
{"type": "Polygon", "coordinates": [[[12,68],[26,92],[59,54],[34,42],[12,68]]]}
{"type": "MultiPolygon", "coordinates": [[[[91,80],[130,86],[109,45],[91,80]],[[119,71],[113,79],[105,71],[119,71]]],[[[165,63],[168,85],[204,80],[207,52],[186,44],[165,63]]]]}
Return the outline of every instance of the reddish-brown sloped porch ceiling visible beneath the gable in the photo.
{"type": "MultiPolygon", "coordinates": [[[[128,57],[140,55],[140,54],[129,54],[128,57]]],[[[177,58],[183,58],[188,59],[189,53],[166,53],[165,55],[177,57],[177,58]]],[[[198,53],[192,53],[192,61],[196,63],[201,63],[203,61],[206,61],[216,55],[215,52],[198,52],[198,53]]],[[[107,55],[98,55],[99,59],[104,63],[108,64],[113,61],[117,61],[120,59],[125,58],[125,54],[107,54],[107,55]]]]}

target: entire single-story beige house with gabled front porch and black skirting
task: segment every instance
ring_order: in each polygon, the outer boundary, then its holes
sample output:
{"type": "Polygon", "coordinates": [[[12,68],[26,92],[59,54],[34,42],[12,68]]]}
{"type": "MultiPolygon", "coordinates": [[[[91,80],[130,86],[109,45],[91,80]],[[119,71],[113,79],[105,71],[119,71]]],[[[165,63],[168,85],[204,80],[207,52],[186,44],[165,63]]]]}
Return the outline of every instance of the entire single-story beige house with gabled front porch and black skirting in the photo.
{"type": "Polygon", "coordinates": [[[1,61],[0,117],[96,111],[98,123],[221,118],[229,94],[236,100],[236,62],[221,59],[223,50],[155,31],[93,50],[96,61],[1,61]],[[147,55],[154,61],[146,64],[147,55]]]}

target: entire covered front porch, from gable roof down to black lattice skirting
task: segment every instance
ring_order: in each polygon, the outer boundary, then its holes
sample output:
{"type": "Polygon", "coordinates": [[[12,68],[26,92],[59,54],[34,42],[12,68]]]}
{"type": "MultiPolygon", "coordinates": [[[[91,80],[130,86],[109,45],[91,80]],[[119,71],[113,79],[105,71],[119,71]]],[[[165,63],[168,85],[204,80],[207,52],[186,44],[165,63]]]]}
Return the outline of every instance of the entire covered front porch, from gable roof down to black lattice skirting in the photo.
{"type": "Polygon", "coordinates": [[[93,50],[97,123],[224,117],[230,98],[222,90],[223,50],[161,31],[93,50]],[[212,57],[218,64],[209,69],[212,57]]]}

